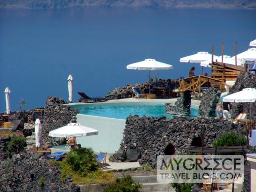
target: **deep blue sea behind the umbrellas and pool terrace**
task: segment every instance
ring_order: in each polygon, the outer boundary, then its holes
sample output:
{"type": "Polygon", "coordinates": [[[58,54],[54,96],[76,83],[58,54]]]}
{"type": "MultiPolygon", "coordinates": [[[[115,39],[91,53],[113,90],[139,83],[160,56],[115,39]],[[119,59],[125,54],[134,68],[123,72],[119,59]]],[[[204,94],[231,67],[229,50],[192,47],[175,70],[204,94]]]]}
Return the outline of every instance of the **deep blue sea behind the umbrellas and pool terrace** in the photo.
{"type": "MultiPolygon", "coordinates": [[[[148,80],[126,65],[147,58],[172,64],[160,78],[187,76],[199,64],[179,63],[198,51],[234,55],[256,39],[255,10],[70,8],[0,10],[0,111],[4,89],[12,110],[42,107],[47,96],[68,98],[67,77],[77,91],[104,96],[114,88],[148,80]]],[[[210,70],[208,69],[208,72],[210,70]]],[[[155,72],[152,72],[154,76],[155,72]]]]}

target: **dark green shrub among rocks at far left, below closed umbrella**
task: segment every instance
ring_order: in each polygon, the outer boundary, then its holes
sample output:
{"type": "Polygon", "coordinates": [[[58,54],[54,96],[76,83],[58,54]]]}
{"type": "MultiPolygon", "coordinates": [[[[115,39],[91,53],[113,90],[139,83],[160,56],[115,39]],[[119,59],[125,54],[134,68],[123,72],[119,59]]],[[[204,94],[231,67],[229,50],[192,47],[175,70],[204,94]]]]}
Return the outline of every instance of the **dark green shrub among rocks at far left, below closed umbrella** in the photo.
{"type": "Polygon", "coordinates": [[[26,138],[13,135],[11,140],[7,142],[6,154],[11,157],[14,154],[18,154],[20,151],[23,151],[26,146],[26,138]]]}

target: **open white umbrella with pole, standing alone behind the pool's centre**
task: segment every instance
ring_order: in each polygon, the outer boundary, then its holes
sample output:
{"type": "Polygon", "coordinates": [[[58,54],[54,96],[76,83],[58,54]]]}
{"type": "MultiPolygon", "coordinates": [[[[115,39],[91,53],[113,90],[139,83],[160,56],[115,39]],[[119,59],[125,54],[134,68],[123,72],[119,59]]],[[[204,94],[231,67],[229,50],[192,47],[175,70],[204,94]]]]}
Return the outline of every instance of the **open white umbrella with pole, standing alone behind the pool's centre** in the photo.
{"type": "Polygon", "coordinates": [[[136,69],[136,70],[149,70],[149,83],[150,83],[150,70],[160,70],[160,69],[172,69],[171,64],[165,64],[158,62],[154,59],[145,59],[142,62],[137,62],[134,64],[128,64],[127,69],[136,69]]]}

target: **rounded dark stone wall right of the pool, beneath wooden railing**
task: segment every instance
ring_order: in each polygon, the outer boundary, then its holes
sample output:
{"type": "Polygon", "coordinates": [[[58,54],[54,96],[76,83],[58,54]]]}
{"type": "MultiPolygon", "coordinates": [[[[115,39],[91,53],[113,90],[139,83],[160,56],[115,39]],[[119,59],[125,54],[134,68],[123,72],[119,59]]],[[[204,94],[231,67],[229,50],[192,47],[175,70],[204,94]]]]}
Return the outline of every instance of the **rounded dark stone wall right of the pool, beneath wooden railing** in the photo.
{"type": "Polygon", "coordinates": [[[219,89],[211,87],[203,92],[200,102],[198,116],[203,118],[215,117],[216,104],[219,101],[221,92],[219,89]]]}

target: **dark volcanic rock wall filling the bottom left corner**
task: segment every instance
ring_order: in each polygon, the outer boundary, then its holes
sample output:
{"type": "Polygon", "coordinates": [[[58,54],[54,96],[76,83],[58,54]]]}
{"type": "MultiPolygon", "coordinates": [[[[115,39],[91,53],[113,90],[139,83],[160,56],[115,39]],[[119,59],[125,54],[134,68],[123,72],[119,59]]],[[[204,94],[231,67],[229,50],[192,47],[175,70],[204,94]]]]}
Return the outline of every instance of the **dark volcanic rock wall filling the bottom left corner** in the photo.
{"type": "Polygon", "coordinates": [[[61,169],[39,154],[26,152],[0,162],[1,192],[79,192],[70,179],[60,181],[61,169]],[[40,183],[40,180],[43,181],[40,183]]]}

